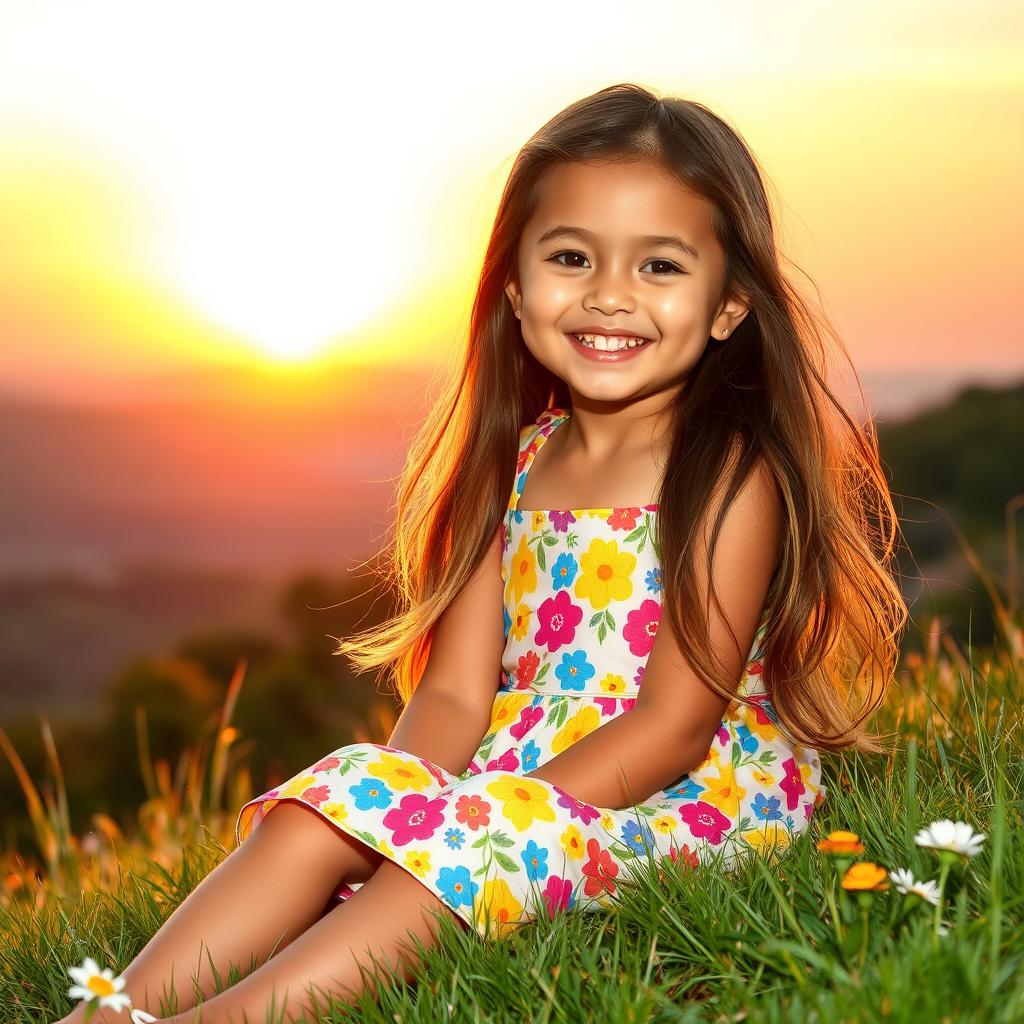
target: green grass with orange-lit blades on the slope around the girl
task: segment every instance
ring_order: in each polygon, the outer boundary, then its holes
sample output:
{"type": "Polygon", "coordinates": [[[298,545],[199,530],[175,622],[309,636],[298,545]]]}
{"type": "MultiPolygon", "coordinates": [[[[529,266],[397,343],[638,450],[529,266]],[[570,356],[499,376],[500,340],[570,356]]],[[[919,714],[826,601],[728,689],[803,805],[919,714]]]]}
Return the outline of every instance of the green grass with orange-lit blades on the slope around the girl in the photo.
{"type": "MultiPolygon", "coordinates": [[[[1013,607],[1000,603],[997,617],[991,651],[962,650],[933,630],[925,654],[903,658],[877,719],[880,731],[898,733],[897,753],[825,755],[826,801],[810,831],[777,859],[755,857],[732,873],[639,862],[629,865],[613,909],[542,918],[492,943],[444,921],[442,943],[415,982],[382,987],[378,1001],[366,998],[356,1011],[339,1005],[328,1019],[1024,1019],[1024,631],[1013,607]],[[940,857],[914,836],[939,818],[987,835],[977,856],[949,858],[945,935],[936,933],[930,903],[892,885],[848,893],[833,857],[816,848],[830,831],[853,831],[865,850],[848,861],[937,879],[940,857]]],[[[0,1021],[49,1022],[67,1013],[66,967],[88,954],[123,969],[233,846],[229,809],[252,796],[244,765],[229,757],[243,675],[244,664],[215,735],[186,752],[173,777],[166,762],[148,763],[142,744],[148,799],[131,837],[102,816],[94,818],[98,842],[71,834],[45,721],[55,792],[42,796],[0,731],[39,847],[38,863],[10,853],[2,863],[0,1021]]],[[[224,985],[252,966],[232,969],[224,985]]]]}

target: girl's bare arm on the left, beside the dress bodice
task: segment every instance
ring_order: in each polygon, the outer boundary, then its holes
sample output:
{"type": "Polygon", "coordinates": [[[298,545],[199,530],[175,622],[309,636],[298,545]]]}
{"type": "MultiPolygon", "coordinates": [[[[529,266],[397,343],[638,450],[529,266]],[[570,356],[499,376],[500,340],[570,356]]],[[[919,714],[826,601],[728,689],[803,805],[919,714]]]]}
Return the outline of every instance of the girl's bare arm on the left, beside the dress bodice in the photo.
{"type": "Polygon", "coordinates": [[[427,667],[388,745],[453,774],[466,770],[490,725],[505,649],[501,530],[434,627],[427,667]]]}

